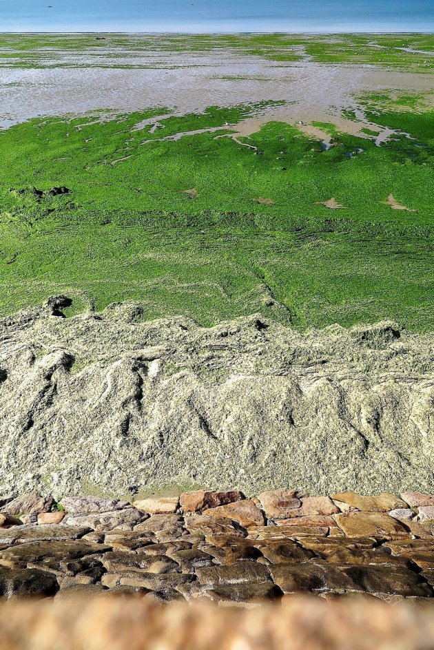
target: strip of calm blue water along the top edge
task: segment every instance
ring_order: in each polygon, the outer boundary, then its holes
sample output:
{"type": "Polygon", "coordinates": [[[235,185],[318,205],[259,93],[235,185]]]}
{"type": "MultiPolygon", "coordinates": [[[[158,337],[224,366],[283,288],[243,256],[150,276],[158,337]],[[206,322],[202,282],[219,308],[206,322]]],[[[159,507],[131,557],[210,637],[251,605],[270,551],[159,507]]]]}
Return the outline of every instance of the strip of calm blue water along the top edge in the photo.
{"type": "Polygon", "coordinates": [[[434,32],[434,0],[0,0],[0,32],[434,32]]]}

